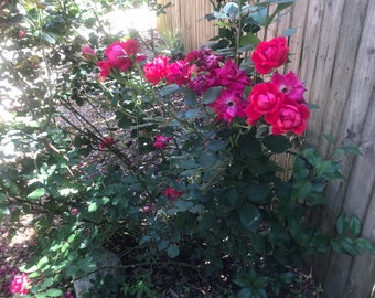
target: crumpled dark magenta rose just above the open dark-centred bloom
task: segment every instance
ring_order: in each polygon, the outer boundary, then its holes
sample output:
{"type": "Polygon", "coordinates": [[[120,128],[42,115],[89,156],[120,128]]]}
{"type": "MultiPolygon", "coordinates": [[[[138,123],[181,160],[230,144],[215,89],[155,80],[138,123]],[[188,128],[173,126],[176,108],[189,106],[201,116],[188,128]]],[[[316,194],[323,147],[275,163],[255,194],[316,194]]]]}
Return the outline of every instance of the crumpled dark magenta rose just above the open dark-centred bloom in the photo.
{"type": "Polygon", "coordinates": [[[239,70],[231,58],[223,67],[215,70],[215,73],[217,85],[226,86],[228,89],[244,91],[245,86],[250,84],[248,75],[239,70]]]}

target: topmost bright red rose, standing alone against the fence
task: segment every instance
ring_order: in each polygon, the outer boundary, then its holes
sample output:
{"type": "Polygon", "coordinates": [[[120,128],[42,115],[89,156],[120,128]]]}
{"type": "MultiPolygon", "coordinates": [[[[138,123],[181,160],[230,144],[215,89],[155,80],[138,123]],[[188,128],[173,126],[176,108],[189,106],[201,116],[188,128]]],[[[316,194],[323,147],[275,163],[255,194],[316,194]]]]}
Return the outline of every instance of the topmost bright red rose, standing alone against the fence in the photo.
{"type": "Polygon", "coordinates": [[[251,61],[259,74],[268,74],[272,68],[287,62],[289,47],[285,36],[259,42],[251,55],[251,61]]]}

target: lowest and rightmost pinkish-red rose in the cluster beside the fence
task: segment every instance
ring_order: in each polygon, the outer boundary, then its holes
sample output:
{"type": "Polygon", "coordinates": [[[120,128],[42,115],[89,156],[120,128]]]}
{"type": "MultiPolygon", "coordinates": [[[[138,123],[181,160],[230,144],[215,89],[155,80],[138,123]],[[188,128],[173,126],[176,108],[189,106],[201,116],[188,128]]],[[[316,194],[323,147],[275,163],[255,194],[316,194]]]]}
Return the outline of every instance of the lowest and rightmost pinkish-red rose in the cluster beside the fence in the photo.
{"type": "Polygon", "coordinates": [[[281,135],[292,131],[302,135],[310,111],[306,105],[298,105],[296,100],[286,98],[279,107],[279,111],[272,115],[271,134],[281,135]]]}

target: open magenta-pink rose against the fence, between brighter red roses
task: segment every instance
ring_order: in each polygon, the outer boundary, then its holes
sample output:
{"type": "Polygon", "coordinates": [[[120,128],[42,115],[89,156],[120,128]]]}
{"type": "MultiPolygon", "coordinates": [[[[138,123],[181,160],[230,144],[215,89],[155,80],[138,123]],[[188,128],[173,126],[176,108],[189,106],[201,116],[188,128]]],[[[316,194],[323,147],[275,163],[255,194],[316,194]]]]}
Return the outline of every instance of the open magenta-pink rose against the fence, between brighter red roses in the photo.
{"type": "Polygon", "coordinates": [[[293,72],[289,72],[286,75],[274,73],[271,82],[288,98],[294,99],[298,104],[306,103],[303,98],[306,88],[293,72]]]}

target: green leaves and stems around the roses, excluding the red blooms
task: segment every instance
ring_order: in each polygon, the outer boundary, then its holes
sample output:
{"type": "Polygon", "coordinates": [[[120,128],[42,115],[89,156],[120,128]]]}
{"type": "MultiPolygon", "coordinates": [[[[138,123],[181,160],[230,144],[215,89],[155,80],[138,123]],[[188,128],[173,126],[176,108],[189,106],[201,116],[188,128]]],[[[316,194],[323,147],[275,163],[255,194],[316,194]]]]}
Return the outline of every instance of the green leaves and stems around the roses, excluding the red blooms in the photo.
{"type": "MultiPolygon", "coordinates": [[[[308,221],[324,204],[326,184],[343,179],[338,156],[360,153],[355,146],[326,136],[335,150],[324,159],[315,149],[294,149],[294,137],[271,135],[264,124],[217,121],[208,105],[222,87],[202,95],[175,84],[152,87],[139,64],[106,82],[93,79],[96,61],[78,52],[89,44],[98,60],[118,40],[101,19],[111,2],[95,9],[92,1],[25,1],[1,17],[18,20],[1,26],[11,44],[4,49],[21,50],[12,58],[0,54],[0,78],[20,91],[17,109],[0,124],[1,146],[12,149],[1,156],[0,216],[15,222],[35,214],[38,242],[22,267],[33,278],[33,297],[61,296],[57,287],[95,272],[97,249],[115,241],[126,252],[125,269],[178,264],[210,276],[231,267],[233,297],[279,295],[296,280],[293,267],[330,247],[349,255],[372,251],[355,216],[340,216],[334,237],[308,221]],[[78,33],[83,28],[87,36],[78,33]],[[82,107],[97,113],[100,127],[82,107]],[[172,138],[168,149],[154,149],[156,135],[172,138]],[[107,136],[116,141],[100,147],[107,136]],[[293,157],[290,173],[279,155],[293,157]],[[169,187],[176,198],[164,193],[169,187]]],[[[216,1],[207,18],[219,19],[212,47],[245,67],[257,32],[293,1],[237,2],[216,1]]],[[[136,270],[101,276],[92,291],[158,295],[153,280],[136,270]]]]}

